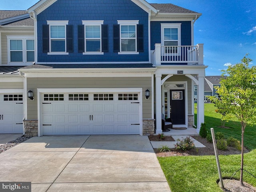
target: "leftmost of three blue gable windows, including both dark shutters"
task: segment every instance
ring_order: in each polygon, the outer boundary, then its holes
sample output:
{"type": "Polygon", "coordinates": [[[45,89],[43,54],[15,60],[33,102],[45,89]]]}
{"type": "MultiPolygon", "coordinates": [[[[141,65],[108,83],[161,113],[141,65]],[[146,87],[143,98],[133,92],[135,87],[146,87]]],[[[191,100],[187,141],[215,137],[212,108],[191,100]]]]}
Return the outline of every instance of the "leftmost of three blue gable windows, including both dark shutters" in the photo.
{"type": "Polygon", "coordinates": [[[42,49],[49,55],[64,55],[73,52],[73,26],[68,21],[47,21],[42,26],[42,49]]]}

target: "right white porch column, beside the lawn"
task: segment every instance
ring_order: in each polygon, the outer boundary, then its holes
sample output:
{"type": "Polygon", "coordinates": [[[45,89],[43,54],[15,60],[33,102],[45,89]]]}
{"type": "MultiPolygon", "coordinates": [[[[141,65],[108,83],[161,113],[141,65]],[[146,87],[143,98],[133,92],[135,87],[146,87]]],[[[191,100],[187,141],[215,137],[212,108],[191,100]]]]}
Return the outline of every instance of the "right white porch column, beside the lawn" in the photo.
{"type": "Polygon", "coordinates": [[[197,86],[197,128],[196,132],[199,133],[201,123],[204,123],[204,76],[198,76],[197,86]]]}

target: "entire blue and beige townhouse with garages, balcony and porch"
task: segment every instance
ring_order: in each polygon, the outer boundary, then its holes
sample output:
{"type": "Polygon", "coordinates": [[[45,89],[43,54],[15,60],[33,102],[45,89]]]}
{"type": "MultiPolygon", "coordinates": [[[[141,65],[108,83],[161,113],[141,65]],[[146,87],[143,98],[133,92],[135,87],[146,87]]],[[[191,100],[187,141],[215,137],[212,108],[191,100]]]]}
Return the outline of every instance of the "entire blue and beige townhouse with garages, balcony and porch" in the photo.
{"type": "Polygon", "coordinates": [[[0,133],[158,134],[162,113],[192,127],[194,84],[204,122],[200,13],[144,0],[40,0],[26,12],[1,11],[0,133]]]}

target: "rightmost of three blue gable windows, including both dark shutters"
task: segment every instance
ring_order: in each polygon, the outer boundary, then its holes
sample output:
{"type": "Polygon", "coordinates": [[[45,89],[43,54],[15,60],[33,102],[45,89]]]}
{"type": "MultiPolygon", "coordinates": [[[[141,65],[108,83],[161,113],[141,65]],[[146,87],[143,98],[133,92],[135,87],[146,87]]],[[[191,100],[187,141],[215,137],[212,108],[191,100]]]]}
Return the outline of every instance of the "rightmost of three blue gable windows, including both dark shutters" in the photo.
{"type": "Polygon", "coordinates": [[[143,25],[139,20],[118,20],[114,30],[114,52],[139,54],[144,51],[143,25]]]}

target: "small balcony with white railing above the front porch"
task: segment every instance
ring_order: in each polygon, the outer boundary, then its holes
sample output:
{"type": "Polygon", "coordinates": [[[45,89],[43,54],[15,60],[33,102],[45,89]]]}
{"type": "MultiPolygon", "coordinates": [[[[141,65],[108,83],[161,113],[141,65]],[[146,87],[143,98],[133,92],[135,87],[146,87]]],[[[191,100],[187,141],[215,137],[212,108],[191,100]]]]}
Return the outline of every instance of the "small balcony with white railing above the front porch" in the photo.
{"type": "Polygon", "coordinates": [[[151,61],[154,65],[204,65],[204,44],[194,46],[161,46],[155,44],[151,61]]]}

